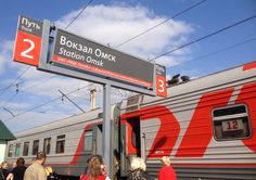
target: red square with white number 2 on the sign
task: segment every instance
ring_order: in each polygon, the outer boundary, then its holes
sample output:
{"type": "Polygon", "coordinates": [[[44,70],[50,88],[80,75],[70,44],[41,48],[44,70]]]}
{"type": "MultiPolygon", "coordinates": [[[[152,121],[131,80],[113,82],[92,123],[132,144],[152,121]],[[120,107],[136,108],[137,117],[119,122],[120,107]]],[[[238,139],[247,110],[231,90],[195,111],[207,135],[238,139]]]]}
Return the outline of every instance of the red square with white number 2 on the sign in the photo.
{"type": "Polygon", "coordinates": [[[38,66],[41,37],[18,30],[15,41],[14,61],[38,66]]]}

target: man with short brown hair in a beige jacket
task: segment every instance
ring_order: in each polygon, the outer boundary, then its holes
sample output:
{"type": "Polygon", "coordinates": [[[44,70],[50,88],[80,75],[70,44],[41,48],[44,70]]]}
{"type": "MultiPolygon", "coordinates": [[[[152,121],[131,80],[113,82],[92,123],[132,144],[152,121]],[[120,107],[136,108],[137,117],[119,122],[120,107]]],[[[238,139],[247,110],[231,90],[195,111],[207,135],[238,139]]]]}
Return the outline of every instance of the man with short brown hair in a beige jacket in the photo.
{"type": "Polygon", "coordinates": [[[26,169],[24,180],[47,180],[47,173],[43,168],[46,159],[46,153],[38,152],[35,162],[26,169]]]}

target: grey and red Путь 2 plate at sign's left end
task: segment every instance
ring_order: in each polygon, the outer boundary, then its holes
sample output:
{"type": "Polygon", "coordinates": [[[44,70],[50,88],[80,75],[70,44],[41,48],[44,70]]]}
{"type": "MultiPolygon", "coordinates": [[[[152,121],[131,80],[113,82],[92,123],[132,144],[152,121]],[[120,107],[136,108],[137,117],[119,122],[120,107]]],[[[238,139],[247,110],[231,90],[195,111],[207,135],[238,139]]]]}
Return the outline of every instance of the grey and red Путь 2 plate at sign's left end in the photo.
{"type": "Polygon", "coordinates": [[[18,16],[13,60],[38,66],[42,38],[42,23],[29,17],[18,16]]]}

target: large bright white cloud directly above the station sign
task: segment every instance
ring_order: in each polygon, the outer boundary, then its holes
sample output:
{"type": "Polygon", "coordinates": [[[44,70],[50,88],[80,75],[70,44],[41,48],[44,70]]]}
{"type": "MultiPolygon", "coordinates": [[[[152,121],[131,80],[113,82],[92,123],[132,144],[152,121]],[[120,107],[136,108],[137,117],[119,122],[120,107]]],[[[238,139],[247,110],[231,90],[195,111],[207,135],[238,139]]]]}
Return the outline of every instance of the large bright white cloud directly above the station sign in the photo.
{"type": "MultiPolygon", "coordinates": [[[[63,28],[66,27],[79,12],[80,10],[74,11],[61,17],[56,21],[56,25],[63,28]]],[[[68,30],[105,46],[108,43],[115,48],[167,18],[157,16],[141,5],[101,4],[88,7],[69,26],[68,30]]],[[[192,25],[185,22],[170,20],[117,49],[148,60],[185,42],[193,30],[192,25]]],[[[183,53],[187,52],[183,51],[183,53]]],[[[171,64],[168,61],[163,63],[163,65],[171,64]]]]}

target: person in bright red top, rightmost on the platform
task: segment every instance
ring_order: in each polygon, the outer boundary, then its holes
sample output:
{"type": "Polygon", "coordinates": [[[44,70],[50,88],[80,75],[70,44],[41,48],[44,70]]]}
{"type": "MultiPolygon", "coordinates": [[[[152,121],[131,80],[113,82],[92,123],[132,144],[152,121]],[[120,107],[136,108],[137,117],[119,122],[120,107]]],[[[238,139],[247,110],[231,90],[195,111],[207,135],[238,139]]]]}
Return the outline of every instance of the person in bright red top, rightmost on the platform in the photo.
{"type": "Polygon", "coordinates": [[[174,168],[170,166],[170,159],[168,156],[163,156],[162,159],[163,167],[158,172],[158,180],[176,180],[176,172],[174,168]]]}

